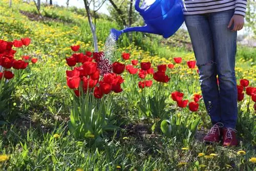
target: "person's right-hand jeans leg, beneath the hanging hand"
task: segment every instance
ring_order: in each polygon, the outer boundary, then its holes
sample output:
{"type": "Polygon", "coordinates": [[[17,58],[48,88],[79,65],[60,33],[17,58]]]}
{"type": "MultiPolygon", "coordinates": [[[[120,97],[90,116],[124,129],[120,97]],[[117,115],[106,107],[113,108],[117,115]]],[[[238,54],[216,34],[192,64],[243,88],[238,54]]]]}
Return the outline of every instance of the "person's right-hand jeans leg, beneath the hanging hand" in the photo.
{"type": "Polygon", "coordinates": [[[209,15],[219,78],[221,122],[224,127],[232,129],[236,127],[238,115],[237,80],[234,71],[237,32],[232,32],[227,26],[233,13],[234,10],[228,10],[209,15]]]}

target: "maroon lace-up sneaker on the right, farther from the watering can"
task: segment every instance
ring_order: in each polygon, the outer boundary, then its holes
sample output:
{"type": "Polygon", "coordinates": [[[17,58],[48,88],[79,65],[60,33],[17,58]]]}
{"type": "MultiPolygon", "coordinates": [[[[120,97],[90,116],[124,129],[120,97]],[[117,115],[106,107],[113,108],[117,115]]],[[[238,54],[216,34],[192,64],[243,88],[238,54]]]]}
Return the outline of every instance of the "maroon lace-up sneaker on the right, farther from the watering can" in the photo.
{"type": "Polygon", "coordinates": [[[238,140],[236,137],[237,130],[231,129],[231,127],[224,127],[222,129],[223,146],[237,146],[238,140]]]}

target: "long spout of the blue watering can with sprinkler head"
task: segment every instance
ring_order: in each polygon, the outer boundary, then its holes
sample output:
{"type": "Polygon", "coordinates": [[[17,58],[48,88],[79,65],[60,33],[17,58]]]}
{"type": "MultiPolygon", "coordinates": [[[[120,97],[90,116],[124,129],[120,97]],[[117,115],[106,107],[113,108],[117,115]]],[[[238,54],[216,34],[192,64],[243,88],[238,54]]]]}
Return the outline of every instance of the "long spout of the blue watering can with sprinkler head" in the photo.
{"type": "Polygon", "coordinates": [[[123,30],[116,30],[116,29],[111,29],[110,32],[111,34],[115,37],[116,40],[118,40],[119,36],[122,33],[126,33],[126,32],[132,32],[132,31],[137,31],[137,32],[143,32],[143,33],[155,33],[157,34],[157,32],[150,26],[141,26],[141,27],[129,27],[123,30]]]}

